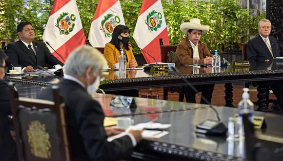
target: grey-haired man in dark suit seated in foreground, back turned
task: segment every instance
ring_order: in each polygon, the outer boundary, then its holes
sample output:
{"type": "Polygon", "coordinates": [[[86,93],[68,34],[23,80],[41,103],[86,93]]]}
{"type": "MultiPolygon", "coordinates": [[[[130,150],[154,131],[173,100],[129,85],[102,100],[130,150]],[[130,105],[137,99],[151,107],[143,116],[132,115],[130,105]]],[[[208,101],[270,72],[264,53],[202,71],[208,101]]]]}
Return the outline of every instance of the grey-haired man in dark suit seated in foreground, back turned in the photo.
{"type": "MultiPolygon", "coordinates": [[[[141,130],[130,130],[111,142],[107,137],[120,134],[119,128],[104,128],[104,113],[99,102],[92,99],[100,84],[103,55],[89,46],[78,47],[65,63],[65,75],[59,82],[60,94],[66,104],[66,119],[74,161],[114,161],[129,157],[141,141],[141,130]]],[[[52,100],[51,88],[39,98],[52,100]]]]}

